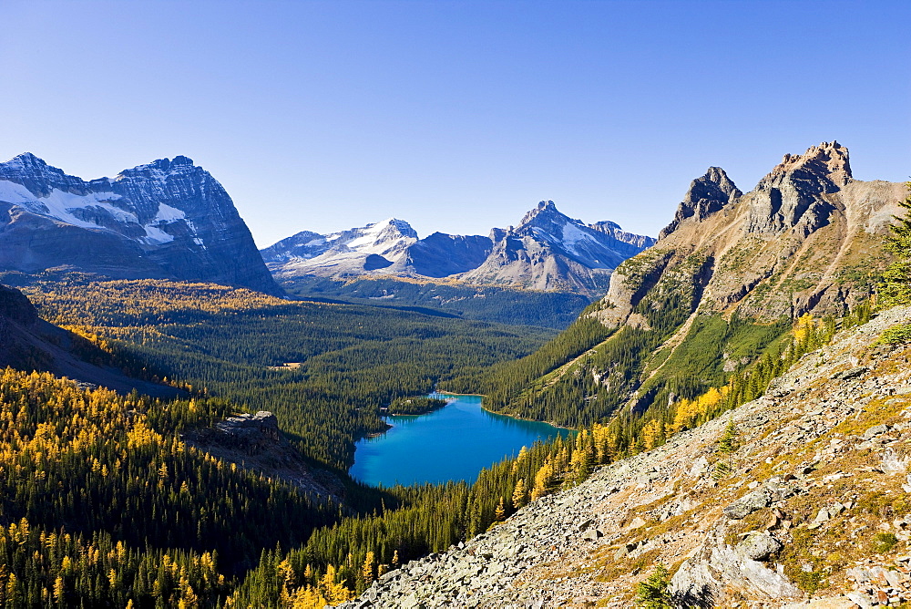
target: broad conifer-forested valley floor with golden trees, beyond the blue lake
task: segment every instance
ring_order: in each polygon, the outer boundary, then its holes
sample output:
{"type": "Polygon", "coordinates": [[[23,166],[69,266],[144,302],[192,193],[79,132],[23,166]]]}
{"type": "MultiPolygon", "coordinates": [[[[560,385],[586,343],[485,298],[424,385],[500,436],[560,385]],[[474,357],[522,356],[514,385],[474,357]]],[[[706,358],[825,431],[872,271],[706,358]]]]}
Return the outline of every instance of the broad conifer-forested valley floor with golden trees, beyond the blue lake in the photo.
{"type": "MultiPolygon", "coordinates": [[[[47,320],[162,377],[270,410],[303,453],[347,470],[379,408],[436,383],[471,391],[487,366],[552,332],[363,305],[289,302],[245,289],[70,275],[23,288],[47,320]]],[[[143,372],[138,370],[136,372],[143,372]]]]}

